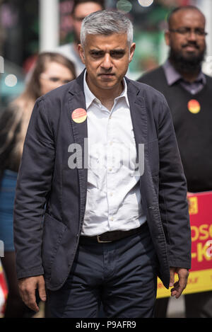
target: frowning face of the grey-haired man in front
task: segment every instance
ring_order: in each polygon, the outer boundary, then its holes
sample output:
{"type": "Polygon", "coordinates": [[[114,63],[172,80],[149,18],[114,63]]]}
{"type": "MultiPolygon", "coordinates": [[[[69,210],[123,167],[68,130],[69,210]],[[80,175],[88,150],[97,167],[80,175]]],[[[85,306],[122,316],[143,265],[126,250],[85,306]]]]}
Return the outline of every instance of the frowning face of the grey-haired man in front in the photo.
{"type": "Polygon", "coordinates": [[[134,50],[135,43],[129,47],[126,33],[86,36],[85,48],[79,45],[79,52],[86,65],[88,86],[94,94],[121,86],[134,50]]]}

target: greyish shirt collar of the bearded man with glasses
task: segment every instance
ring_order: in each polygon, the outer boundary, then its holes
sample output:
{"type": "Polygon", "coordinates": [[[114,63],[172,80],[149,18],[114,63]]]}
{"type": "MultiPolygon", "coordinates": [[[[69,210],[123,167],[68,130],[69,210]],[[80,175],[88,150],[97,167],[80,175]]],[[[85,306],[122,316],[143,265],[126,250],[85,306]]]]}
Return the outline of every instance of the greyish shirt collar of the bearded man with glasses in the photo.
{"type": "MultiPolygon", "coordinates": [[[[179,81],[179,79],[183,79],[182,75],[172,66],[169,59],[166,60],[165,64],[163,64],[163,69],[165,71],[165,77],[167,80],[167,84],[171,86],[175,82],[179,81]]],[[[200,71],[199,75],[196,77],[196,82],[201,81],[203,84],[206,84],[206,76],[202,71],[200,71]]]]}

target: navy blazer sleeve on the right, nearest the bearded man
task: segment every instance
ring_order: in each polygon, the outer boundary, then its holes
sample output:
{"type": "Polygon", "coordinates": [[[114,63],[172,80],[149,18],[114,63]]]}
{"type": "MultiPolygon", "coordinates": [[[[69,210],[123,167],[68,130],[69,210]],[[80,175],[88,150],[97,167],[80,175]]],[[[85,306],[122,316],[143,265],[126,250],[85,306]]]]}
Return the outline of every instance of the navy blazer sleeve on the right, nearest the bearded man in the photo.
{"type": "Polygon", "coordinates": [[[179,156],[170,109],[163,98],[158,121],[160,154],[159,206],[170,266],[191,268],[191,228],[187,181],[179,156]]]}

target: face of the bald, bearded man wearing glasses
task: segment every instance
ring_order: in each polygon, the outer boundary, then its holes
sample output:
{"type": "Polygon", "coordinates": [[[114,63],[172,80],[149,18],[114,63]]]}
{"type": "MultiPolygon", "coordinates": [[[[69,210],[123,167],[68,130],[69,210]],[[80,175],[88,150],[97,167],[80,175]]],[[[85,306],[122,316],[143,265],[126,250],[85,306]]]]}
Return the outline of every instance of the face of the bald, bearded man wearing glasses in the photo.
{"type": "Polygon", "coordinates": [[[165,40],[170,46],[171,53],[179,55],[184,60],[197,59],[204,55],[206,50],[205,35],[199,35],[199,31],[205,30],[204,16],[197,10],[187,9],[177,11],[172,16],[170,30],[187,28],[188,33],[167,31],[165,40]],[[196,31],[196,33],[195,33],[196,31]]]}

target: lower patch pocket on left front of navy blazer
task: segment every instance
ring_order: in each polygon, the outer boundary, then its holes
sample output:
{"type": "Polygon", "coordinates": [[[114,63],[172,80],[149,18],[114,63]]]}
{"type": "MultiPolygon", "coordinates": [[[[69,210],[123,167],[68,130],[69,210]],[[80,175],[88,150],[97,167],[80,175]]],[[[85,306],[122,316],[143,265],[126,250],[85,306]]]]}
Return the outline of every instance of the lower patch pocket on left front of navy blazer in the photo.
{"type": "Polygon", "coordinates": [[[57,255],[57,250],[63,237],[66,226],[54,219],[49,214],[45,214],[43,239],[42,239],[42,264],[47,279],[51,276],[52,263],[57,255]]]}

